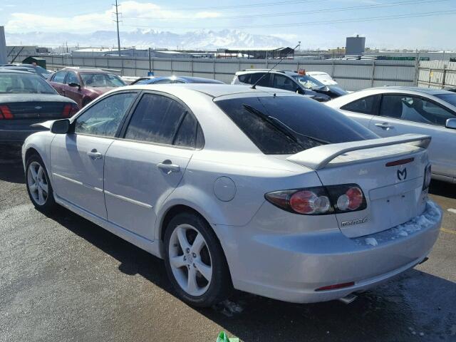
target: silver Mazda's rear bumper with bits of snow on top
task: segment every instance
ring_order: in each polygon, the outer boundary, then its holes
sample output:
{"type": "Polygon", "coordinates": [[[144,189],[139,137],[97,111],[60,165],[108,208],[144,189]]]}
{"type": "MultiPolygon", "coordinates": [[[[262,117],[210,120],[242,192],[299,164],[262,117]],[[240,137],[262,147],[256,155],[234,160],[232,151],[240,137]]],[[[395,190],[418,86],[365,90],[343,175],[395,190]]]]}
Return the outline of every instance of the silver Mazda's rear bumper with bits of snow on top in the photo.
{"type": "Polygon", "coordinates": [[[410,269],[432,249],[442,220],[441,209],[429,201],[405,224],[351,239],[339,229],[274,234],[260,227],[259,214],[261,209],[244,227],[217,226],[234,287],[295,303],[339,299],[410,269]],[[343,289],[315,291],[351,281],[343,289]]]}

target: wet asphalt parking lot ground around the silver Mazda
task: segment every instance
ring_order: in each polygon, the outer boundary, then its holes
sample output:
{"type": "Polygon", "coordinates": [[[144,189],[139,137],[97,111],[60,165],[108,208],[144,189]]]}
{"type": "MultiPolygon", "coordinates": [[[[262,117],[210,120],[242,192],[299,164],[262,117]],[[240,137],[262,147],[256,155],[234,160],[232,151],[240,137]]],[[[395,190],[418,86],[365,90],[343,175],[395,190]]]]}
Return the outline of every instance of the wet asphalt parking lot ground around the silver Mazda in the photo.
{"type": "Polygon", "coordinates": [[[430,259],[352,304],[236,292],[192,309],[160,259],[66,209],[36,211],[19,152],[0,151],[0,341],[215,341],[222,330],[261,342],[456,341],[456,185],[430,192],[445,212],[430,259]]]}

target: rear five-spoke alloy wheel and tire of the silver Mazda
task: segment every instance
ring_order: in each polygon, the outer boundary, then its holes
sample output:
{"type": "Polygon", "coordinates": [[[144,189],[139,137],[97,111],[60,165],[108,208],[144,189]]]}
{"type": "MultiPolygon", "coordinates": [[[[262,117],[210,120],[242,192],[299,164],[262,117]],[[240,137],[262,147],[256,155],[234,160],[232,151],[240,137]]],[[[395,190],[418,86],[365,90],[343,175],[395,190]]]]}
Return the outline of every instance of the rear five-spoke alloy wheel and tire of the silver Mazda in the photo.
{"type": "Polygon", "coordinates": [[[228,298],[232,290],[228,264],[219,240],[202,217],[177,214],[166,227],[164,244],[167,275],[180,299],[207,307],[228,298]]]}

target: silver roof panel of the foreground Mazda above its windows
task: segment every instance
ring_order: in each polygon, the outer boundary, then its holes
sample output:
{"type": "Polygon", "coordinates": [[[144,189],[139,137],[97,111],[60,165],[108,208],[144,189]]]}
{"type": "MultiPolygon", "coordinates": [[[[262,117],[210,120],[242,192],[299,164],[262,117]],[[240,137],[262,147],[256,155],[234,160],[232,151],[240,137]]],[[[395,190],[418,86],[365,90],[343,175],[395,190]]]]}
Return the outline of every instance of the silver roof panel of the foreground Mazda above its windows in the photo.
{"type": "MultiPolygon", "coordinates": [[[[116,88],[117,90],[122,89],[139,89],[139,90],[162,90],[166,93],[176,93],[179,89],[184,88],[185,90],[197,91],[203,93],[212,98],[217,98],[224,95],[234,95],[234,94],[274,94],[274,93],[287,93],[293,95],[294,93],[281,90],[276,88],[264,88],[257,87],[252,89],[251,86],[244,85],[232,85],[232,84],[215,84],[215,83],[180,83],[180,84],[133,84],[131,86],[126,86],[125,88],[116,88]]],[[[294,94],[296,95],[296,94],[294,94]]]]}

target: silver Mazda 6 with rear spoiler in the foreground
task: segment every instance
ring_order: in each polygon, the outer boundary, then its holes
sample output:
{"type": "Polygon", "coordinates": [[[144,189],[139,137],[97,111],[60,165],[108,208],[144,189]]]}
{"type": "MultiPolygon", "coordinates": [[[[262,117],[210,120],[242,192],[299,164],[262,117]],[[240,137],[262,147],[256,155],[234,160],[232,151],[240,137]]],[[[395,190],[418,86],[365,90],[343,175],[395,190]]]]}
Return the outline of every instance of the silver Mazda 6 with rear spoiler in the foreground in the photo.
{"type": "Polygon", "coordinates": [[[246,86],[128,86],[42,124],[22,156],[56,204],[165,260],[177,295],[349,299],[424,261],[442,213],[427,135],[377,135],[314,100],[246,86]]]}

